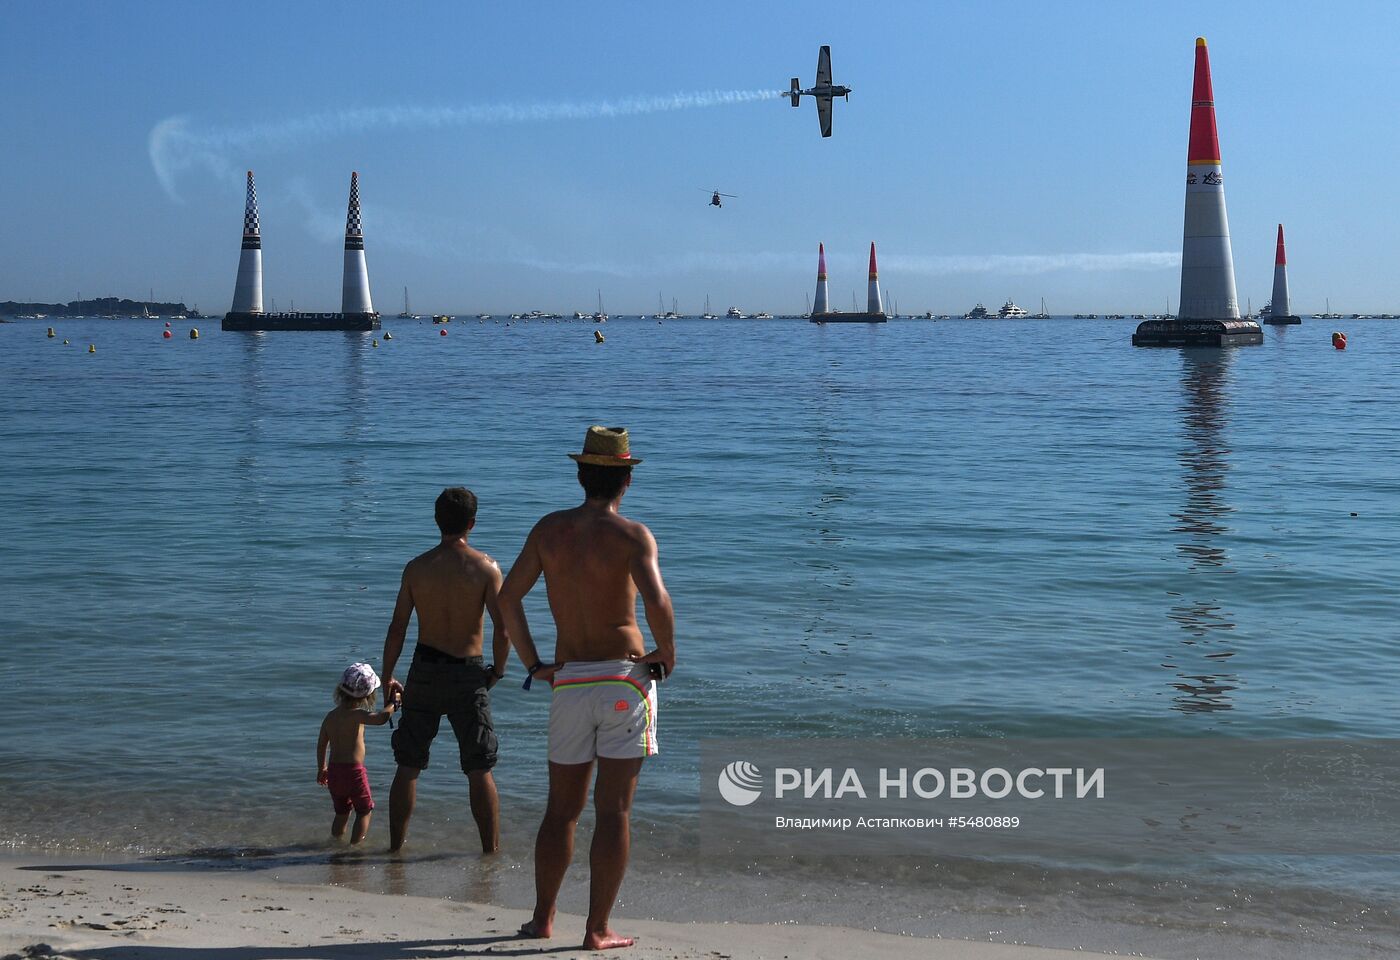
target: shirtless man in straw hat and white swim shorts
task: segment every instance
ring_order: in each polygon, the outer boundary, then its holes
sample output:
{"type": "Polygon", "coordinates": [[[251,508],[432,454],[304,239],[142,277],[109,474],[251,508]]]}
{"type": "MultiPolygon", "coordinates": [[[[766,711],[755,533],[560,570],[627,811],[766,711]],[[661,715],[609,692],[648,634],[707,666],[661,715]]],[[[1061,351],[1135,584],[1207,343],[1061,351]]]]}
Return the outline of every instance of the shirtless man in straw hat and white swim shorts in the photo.
{"type": "Polygon", "coordinates": [[[631,844],[631,798],[643,758],[657,753],[657,683],[676,665],[675,617],[661,582],[657,542],[617,512],[641,460],[622,427],[589,427],[578,462],[581,507],[535,525],[501,586],[501,616],[532,680],[554,687],[549,711],[549,803],[535,840],[535,915],[521,935],[553,935],[554,901],[574,856],[574,827],[588,803],[594,761],[596,826],[589,851],[588,925],[584,949],[631,946],[608,917],[631,844]],[[556,663],[540,662],[522,600],[545,574],[554,616],[556,663]],[[637,595],[657,649],[645,652],[637,627],[637,595]]]}

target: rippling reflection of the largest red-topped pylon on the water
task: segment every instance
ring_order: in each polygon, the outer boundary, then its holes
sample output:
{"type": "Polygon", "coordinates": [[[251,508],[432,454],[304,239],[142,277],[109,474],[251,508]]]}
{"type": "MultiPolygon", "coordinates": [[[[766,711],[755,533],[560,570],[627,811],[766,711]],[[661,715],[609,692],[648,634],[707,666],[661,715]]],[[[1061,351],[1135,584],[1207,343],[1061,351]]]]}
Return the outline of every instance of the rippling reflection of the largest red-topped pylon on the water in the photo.
{"type": "Polygon", "coordinates": [[[1211,712],[1233,708],[1239,677],[1222,668],[1235,656],[1232,614],[1217,599],[1228,589],[1235,572],[1221,535],[1233,508],[1226,501],[1229,446],[1225,437],[1228,383],[1232,351],[1182,351],[1182,438],[1177,459],[1186,483],[1186,500],[1175,515],[1179,535],[1176,550],[1187,561],[1184,592],[1168,612],[1186,635],[1184,649],[1162,666],[1176,670],[1172,708],[1182,712],[1211,712]]]}

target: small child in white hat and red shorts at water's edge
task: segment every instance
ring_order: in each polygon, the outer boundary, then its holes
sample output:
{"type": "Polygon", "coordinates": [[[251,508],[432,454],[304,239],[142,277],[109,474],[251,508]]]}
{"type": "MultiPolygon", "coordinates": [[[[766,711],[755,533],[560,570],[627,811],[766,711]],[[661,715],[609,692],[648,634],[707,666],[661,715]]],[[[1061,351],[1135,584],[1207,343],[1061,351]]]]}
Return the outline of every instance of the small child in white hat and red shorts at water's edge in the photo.
{"type": "Polygon", "coordinates": [[[316,740],[316,782],[330,788],[336,819],[330,821],[330,834],[346,835],[350,810],[354,809],[354,833],[350,842],[358,844],[370,831],[370,814],[374,798],[370,796],[370,775],[364,768],[364,725],[381,726],[393,717],[398,708],[391,703],[385,710],[374,711],[374,693],[379,689],[379,677],[368,663],[351,663],[336,686],[336,708],[321,721],[321,737],[316,740]],[[330,750],[330,764],[326,764],[326,749],[330,750]]]}

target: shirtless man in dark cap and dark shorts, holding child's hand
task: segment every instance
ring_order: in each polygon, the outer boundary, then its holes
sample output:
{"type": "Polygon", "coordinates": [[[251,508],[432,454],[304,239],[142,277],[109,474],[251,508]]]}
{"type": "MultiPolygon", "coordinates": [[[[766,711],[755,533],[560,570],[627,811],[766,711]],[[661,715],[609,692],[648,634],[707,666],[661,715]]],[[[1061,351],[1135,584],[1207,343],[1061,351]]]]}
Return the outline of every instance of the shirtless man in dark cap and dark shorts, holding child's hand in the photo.
{"type": "Polygon", "coordinates": [[[384,697],[403,694],[403,714],[393,732],[393,758],[399,764],[389,788],[389,851],[403,847],[417,799],[419,774],[428,765],[428,747],[445,715],[456,735],[456,749],[466,774],[472,817],[482,834],[482,849],[500,848],[500,803],[491,768],[496,765],[496,729],[487,693],[505,676],[510,641],[497,607],[501,571],[496,561],[466,546],[476,526],[476,495],[449,487],[433,511],[442,542],[403,568],[399,600],[384,638],[384,697]],[[409,617],[417,610],[419,642],[409,666],[409,682],[393,679],[403,652],[409,617]],[[491,614],[491,668],[482,658],[482,614],[491,614]]]}

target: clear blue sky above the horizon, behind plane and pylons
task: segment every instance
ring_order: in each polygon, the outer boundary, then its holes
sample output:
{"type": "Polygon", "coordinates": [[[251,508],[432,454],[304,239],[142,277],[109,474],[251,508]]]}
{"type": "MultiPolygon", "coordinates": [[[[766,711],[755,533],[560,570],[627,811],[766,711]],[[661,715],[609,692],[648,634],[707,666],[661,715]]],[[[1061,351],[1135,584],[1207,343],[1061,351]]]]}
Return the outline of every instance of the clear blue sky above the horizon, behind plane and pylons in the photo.
{"type": "Polygon", "coordinates": [[[1396,4],[6,3],[4,18],[0,299],[154,287],[227,309],[252,168],[283,308],[339,305],[357,169],[384,312],[403,285],[423,312],[582,309],[599,288],[613,312],[658,291],[692,312],[706,294],[799,312],[818,241],[840,304],[864,291],[871,239],[904,312],[1155,311],[1176,301],[1201,34],[1240,301],[1267,299],[1284,221],[1295,309],[1400,311],[1396,4]],[[777,97],[811,84],[820,43],[854,88],[830,140],[811,101],[777,97]],[[179,136],[153,154],[158,129],[179,136]],[[708,207],[715,186],[738,199],[708,207]]]}

